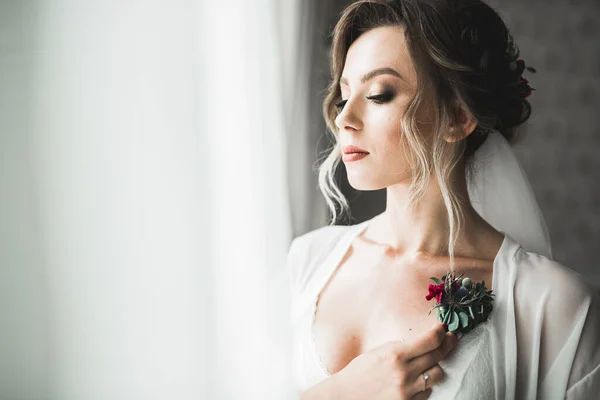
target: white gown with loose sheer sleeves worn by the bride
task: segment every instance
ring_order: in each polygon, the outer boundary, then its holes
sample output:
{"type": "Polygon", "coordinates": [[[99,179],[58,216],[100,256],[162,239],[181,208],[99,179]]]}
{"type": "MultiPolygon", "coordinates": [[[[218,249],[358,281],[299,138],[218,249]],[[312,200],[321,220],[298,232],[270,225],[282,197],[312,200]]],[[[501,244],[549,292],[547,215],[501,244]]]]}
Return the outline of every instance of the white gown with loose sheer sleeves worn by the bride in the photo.
{"type": "MultiPolygon", "coordinates": [[[[290,246],[298,393],[328,377],[314,345],[317,297],[369,222],[320,228],[290,246]]],[[[490,319],[440,363],[447,379],[430,399],[600,399],[600,297],[579,274],[508,235],[493,266],[490,319]]]]}

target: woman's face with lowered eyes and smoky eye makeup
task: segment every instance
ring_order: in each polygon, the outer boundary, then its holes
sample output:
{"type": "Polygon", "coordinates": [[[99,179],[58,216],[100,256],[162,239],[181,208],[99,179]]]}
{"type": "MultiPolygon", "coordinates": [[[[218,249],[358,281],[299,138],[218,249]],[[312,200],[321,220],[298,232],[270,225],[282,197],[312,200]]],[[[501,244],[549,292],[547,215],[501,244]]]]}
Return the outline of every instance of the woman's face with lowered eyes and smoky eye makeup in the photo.
{"type": "MultiPolygon", "coordinates": [[[[343,108],[335,124],[348,181],[355,189],[377,190],[410,178],[400,120],[416,88],[402,27],[372,29],[350,46],[340,84],[343,108]],[[350,145],[369,154],[344,154],[350,145]]],[[[420,123],[426,119],[422,114],[420,123]]]]}

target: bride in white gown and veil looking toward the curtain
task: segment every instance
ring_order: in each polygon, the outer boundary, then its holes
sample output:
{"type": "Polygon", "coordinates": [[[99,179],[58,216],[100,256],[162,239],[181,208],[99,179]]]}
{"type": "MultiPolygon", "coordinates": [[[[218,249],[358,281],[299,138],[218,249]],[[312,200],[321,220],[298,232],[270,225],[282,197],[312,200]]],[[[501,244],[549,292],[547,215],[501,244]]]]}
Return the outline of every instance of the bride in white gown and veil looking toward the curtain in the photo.
{"type": "Polygon", "coordinates": [[[387,203],[292,242],[302,399],[600,398],[600,299],[552,261],[508,145],[534,90],[518,56],[479,0],[363,0],[341,15],[319,183],[333,222],[347,208],[339,162],[387,203]],[[429,314],[430,277],[448,272],[494,293],[468,333],[429,314]]]}

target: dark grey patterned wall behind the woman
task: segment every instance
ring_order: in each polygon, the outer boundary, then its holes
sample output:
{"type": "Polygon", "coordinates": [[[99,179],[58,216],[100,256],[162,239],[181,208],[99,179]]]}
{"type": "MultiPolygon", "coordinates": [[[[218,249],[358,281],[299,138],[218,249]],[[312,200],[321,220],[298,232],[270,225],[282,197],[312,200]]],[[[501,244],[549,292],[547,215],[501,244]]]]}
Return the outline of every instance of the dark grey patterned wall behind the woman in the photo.
{"type": "MultiPolygon", "coordinates": [[[[321,102],[329,80],[330,32],[350,1],[312,3],[314,20],[310,93],[312,162],[328,145],[321,102]]],[[[546,218],[554,258],[600,287],[600,1],[489,0],[537,69],[527,134],[515,152],[546,218]]],[[[383,211],[384,192],[356,192],[340,183],[356,223],[383,211]]],[[[321,196],[316,174],[314,196],[321,196]]],[[[312,228],[317,228],[313,226],[312,228]]]]}

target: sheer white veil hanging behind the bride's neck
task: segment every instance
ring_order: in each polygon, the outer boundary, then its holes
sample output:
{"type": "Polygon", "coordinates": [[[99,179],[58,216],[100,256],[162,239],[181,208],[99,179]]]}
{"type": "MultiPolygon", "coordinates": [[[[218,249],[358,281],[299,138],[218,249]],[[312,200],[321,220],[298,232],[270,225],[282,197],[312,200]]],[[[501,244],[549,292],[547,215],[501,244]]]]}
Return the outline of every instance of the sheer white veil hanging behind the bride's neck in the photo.
{"type": "Polygon", "coordinates": [[[510,144],[492,131],[474,156],[468,178],[473,208],[527,251],[552,258],[546,221],[510,144]]]}

